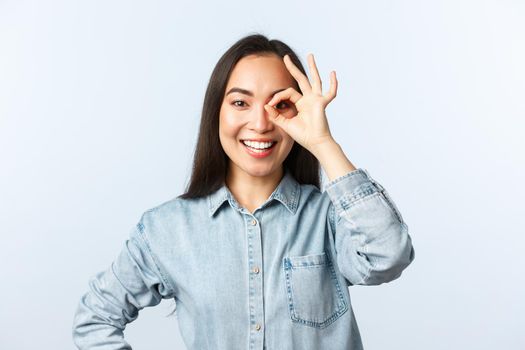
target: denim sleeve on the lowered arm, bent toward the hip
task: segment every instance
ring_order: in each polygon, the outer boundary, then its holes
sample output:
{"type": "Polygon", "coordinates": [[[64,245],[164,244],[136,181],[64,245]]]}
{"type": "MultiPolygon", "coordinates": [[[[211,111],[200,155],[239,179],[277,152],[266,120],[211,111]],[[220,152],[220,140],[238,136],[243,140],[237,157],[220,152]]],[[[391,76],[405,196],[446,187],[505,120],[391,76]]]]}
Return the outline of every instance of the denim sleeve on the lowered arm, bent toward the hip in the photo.
{"type": "Polygon", "coordinates": [[[145,215],[105,271],[89,280],[89,291],[78,304],[73,341],[79,349],[131,349],[124,339],[126,324],[144,307],[173,297],[148,243],[145,215]]]}

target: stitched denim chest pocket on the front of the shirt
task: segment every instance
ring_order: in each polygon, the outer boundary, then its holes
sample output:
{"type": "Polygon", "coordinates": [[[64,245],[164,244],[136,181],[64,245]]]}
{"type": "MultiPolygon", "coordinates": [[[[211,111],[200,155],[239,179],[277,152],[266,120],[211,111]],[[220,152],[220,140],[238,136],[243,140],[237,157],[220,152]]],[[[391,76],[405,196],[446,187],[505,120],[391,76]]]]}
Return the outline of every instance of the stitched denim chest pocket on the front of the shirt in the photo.
{"type": "Polygon", "coordinates": [[[284,276],[290,318],[314,328],[325,328],[348,310],[330,255],[284,258],[284,276]]]}

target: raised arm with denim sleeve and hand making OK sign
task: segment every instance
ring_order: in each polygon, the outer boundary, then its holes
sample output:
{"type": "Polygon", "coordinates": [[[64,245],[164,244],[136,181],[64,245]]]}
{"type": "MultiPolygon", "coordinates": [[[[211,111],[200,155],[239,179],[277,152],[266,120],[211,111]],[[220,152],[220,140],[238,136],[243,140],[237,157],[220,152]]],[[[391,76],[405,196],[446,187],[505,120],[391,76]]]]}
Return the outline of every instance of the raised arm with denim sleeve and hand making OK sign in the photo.
{"type": "Polygon", "coordinates": [[[321,163],[330,182],[331,217],[337,262],[350,284],[380,284],[400,276],[414,259],[407,225],[386,190],[363,169],[356,169],[335,142],[325,108],[336,97],[337,77],[330,73],[326,94],[313,54],[308,55],[310,79],[283,58],[301,93],[289,87],[265,105],[269,118],[321,163]],[[274,107],[282,100],[294,103],[297,115],[288,118],[274,107]]]}

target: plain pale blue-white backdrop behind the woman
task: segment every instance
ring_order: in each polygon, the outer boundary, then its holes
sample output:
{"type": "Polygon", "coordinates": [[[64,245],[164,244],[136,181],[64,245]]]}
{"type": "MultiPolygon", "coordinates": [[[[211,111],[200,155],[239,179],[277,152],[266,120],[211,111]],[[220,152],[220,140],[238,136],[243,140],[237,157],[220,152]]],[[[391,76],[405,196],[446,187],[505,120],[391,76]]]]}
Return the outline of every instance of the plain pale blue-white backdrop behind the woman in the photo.
{"type": "MultiPolygon", "coordinates": [[[[408,224],[412,265],[350,289],[365,348],[525,348],[524,18],[518,0],[0,0],[0,348],[74,348],[88,279],[182,193],[211,71],[255,32],[314,53],[325,89],[336,70],[332,134],[408,224]]],[[[173,307],[141,311],[134,349],[185,349],[173,307]]]]}

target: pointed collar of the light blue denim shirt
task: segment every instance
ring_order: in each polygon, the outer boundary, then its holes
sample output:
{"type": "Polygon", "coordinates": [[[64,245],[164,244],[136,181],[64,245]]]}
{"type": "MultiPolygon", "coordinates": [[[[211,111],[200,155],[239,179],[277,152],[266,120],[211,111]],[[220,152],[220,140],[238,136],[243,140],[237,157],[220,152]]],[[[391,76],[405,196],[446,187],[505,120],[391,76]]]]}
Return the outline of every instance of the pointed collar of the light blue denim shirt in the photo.
{"type": "MultiPolygon", "coordinates": [[[[281,202],[292,214],[295,214],[299,203],[300,187],[288,168],[285,168],[284,176],[261,208],[275,199],[281,202]]],[[[208,199],[210,216],[213,216],[225,201],[228,201],[234,209],[240,209],[240,205],[225,184],[210,194],[208,199]]]]}

